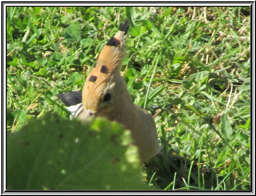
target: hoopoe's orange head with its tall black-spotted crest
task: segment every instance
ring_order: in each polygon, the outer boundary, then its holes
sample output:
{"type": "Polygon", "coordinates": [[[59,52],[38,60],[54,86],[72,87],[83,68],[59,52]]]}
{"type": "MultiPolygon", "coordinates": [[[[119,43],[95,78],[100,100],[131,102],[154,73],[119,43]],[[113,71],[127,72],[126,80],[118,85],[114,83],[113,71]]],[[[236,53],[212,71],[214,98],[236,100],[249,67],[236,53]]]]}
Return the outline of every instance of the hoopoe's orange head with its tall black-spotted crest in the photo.
{"type": "Polygon", "coordinates": [[[103,107],[113,103],[116,86],[124,58],[124,46],[129,22],[127,19],[102,48],[97,62],[83,86],[82,103],[87,115],[94,115],[103,107]]]}

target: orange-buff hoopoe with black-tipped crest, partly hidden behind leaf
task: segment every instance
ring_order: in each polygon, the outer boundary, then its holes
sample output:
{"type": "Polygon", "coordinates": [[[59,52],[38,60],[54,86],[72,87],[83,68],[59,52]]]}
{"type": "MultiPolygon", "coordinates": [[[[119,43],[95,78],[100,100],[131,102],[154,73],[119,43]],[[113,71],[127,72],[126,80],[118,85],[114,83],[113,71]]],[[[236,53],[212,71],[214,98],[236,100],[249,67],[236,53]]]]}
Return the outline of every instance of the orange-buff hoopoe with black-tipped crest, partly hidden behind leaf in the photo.
{"type": "Polygon", "coordinates": [[[88,116],[101,116],[124,125],[131,131],[140,160],[144,163],[155,156],[161,146],[152,115],[133,103],[120,75],[128,28],[126,19],[101,50],[82,92],[67,92],[57,97],[68,107],[72,116],[81,120],[88,116]]]}

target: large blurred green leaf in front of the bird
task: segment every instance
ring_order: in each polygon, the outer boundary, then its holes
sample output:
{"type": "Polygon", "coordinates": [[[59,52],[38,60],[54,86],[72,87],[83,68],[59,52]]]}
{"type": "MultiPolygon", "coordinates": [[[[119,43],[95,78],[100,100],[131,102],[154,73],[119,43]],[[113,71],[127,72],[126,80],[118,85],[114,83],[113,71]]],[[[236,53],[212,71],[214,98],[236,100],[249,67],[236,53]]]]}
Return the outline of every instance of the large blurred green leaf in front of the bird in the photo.
{"type": "Polygon", "coordinates": [[[8,190],[152,189],[141,171],[130,131],[107,119],[47,114],[7,136],[8,190]]]}

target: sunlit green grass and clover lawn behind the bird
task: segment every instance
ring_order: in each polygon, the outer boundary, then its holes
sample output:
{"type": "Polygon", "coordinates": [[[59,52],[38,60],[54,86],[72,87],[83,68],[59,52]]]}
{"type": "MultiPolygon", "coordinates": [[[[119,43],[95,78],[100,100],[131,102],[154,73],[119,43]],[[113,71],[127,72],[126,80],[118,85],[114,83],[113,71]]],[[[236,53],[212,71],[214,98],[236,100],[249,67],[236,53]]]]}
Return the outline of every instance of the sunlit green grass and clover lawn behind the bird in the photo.
{"type": "Polygon", "coordinates": [[[144,180],[161,190],[249,190],[249,7],[8,7],[7,130],[82,90],[127,18],[123,76],[154,115],[161,154],[144,180]]]}

